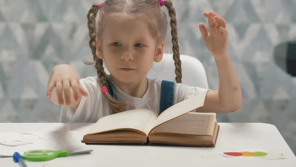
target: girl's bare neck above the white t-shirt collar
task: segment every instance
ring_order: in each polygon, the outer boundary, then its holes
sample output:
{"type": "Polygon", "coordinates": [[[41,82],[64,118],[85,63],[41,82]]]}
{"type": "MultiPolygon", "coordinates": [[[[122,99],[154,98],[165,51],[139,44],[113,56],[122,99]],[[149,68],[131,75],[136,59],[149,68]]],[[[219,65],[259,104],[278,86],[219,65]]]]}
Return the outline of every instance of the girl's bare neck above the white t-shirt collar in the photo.
{"type": "Polygon", "coordinates": [[[113,83],[126,95],[142,98],[148,89],[148,79],[144,77],[141,80],[133,82],[121,82],[112,75],[110,75],[113,83]]]}

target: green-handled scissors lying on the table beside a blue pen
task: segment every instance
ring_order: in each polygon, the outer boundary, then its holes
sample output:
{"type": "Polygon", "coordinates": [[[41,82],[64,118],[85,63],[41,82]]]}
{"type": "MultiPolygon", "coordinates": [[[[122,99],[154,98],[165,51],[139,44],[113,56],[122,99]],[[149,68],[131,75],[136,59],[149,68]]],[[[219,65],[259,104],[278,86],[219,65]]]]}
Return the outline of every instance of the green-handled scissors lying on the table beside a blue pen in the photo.
{"type": "Polygon", "coordinates": [[[89,153],[89,152],[90,150],[76,152],[76,153],[69,153],[69,151],[66,149],[64,150],[41,149],[41,150],[26,151],[22,156],[24,159],[31,160],[31,161],[46,161],[46,160],[54,159],[56,157],[63,157],[63,156],[69,156],[73,154],[89,153]]]}

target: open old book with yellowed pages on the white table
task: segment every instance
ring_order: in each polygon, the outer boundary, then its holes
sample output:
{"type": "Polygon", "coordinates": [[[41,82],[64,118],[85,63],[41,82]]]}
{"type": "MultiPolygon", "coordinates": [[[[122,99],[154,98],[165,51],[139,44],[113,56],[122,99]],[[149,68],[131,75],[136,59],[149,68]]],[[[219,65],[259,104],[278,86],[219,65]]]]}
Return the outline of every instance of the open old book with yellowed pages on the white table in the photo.
{"type": "Polygon", "coordinates": [[[175,104],[159,116],[145,109],[105,116],[90,128],[82,142],[214,146],[219,130],[216,113],[191,112],[204,105],[207,92],[175,104]]]}

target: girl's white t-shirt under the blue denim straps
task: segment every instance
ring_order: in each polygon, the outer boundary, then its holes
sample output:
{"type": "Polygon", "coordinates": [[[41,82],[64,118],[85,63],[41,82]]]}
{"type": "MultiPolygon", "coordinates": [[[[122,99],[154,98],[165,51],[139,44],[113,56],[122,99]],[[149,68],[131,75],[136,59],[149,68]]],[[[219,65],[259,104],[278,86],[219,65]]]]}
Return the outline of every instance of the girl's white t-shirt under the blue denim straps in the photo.
{"type": "MultiPolygon", "coordinates": [[[[112,80],[111,80],[112,82],[112,80]]],[[[102,95],[101,88],[97,84],[97,76],[90,76],[80,79],[84,90],[88,92],[88,97],[82,96],[78,108],[71,109],[62,106],[61,122],[97,122],[100,118],[110,115],[107,98],[102,95]]],[[[147,109],[159,115],[161,100],[161,80],[148,79],[148,89],[142,98],[136,98],[123,93],[115,84],[113,92],[118,100],[128,102],[125,110],[147,109]]],[[[206,89],[199,87],[190,87],[184,84],[175,84],[174,104],[193,97],[206,89]]]]}

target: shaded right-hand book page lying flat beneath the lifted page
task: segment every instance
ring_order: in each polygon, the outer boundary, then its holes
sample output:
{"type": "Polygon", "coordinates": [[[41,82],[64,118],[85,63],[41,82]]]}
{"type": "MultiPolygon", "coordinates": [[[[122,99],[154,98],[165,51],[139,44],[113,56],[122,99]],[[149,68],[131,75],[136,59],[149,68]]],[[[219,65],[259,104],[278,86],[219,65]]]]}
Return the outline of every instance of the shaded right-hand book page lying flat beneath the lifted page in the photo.
{"type": "Polygon", "coordinates": [[[189,112],[158,127],[151,133],[213,135],[216,113],[189,112]]]}

